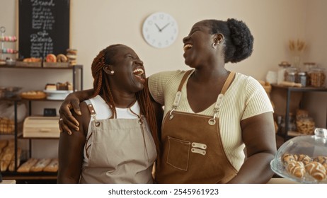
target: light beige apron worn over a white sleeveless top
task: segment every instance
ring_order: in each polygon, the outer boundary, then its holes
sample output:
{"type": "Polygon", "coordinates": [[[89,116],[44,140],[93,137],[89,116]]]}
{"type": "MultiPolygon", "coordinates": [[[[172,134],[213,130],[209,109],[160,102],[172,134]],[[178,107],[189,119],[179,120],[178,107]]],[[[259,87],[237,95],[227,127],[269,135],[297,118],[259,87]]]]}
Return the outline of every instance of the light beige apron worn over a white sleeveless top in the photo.
{"type": "Polygon", "coordinates": [[[143,123],[141,119],[96,120],[90,105],[93,140],[91,149],[84,148],[88,166],[82,168],[80,183],[152,183],[156,146],[145,118],[143,123]]]}

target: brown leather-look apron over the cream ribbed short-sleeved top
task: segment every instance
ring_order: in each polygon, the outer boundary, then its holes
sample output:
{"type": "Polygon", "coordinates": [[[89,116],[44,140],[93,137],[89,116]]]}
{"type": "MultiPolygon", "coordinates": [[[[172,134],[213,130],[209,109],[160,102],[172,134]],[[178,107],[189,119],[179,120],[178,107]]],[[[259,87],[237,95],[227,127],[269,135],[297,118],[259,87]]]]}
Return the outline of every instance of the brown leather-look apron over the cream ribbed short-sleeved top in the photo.
{"type": "Polygon", "coordinates": [[[173,108],[164,118],[161,132],[162,158],[156,168],[158,183],[226,183],[237,171],[231,165],[219,132],[217,113],[235,73],[231,72],[218,95],[212,117],[178,112],[183,76],[173,108]]]}

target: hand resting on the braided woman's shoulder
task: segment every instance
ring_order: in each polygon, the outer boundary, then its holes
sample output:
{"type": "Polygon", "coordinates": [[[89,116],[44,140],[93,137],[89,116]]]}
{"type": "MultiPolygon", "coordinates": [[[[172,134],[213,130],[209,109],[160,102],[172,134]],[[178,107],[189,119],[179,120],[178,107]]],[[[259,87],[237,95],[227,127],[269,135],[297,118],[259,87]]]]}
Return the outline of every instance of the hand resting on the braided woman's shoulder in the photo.
{"type": "Polygon", "coordinates": [[[59,120],[60,132],[71,134],[72,129],[79,131],[79,122],[76,120],[76,117],[72,115],[71,110],[74,110],[76,115],[81,115],[79,102],[91,98],[92,95],[93,89],[76,91],[67,95],[59,108],[59,117],[62,118],[62,120],[59,120]]]}

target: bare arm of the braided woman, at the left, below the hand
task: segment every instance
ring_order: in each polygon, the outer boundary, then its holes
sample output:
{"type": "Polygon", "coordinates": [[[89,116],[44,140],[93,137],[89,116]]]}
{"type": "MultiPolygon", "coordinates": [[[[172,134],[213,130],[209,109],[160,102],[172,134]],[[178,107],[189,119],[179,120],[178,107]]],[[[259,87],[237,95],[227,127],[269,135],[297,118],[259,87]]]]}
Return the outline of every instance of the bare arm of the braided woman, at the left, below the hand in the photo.
{"type": "Polygon", "coordinates": [[[86,103],[81,103],[81,112],[84,114],[77,115],[73,112],[77,122],[82,124],[79,132],[73,129],[71,135],[60,133],[58,183],[79,183],[88,123],[91,119],[86,110],[86,103]]]}

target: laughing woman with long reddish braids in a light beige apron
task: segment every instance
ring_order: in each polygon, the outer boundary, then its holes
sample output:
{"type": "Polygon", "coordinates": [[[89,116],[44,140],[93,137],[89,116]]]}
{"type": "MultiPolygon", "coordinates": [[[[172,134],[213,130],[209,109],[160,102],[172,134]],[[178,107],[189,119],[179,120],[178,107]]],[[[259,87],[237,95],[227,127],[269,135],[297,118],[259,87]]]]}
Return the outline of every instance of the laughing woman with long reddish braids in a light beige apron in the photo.
{"type": "Polygon", "coordinates": [[[110,45],[91,70],[93,95],[74,115],[79,132],[60,134],[57,182],[152,183],[162,108],[144,88],[143,62],[130,47],[110,45]]]}

